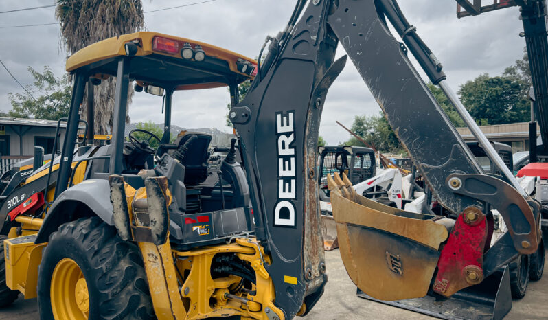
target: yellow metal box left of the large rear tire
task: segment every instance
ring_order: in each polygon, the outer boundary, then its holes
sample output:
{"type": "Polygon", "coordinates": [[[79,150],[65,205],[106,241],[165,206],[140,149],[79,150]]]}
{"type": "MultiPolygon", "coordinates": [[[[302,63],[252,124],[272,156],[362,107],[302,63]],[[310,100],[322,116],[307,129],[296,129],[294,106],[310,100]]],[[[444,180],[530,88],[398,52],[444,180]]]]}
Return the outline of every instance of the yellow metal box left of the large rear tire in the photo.
{"type": "Polygon", "coordinates": [[[36,297],[38,265],[42,260],[45,243],[13,243],[14,239],[4,240],[5,283],[12,290],[19,290],[25,299],[36,297]]]}

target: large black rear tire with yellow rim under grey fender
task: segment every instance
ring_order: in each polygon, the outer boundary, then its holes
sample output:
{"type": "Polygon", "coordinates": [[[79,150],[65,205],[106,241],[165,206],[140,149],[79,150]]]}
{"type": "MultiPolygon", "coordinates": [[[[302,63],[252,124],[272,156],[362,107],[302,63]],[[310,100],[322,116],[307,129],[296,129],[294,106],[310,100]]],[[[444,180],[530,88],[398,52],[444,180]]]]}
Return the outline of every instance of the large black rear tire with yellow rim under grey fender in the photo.
{"type": "Polygon", "coordinates": [[[41,319],[154,319],[138,247],[100,218],[49,236],[38,268],[41,319]]]}

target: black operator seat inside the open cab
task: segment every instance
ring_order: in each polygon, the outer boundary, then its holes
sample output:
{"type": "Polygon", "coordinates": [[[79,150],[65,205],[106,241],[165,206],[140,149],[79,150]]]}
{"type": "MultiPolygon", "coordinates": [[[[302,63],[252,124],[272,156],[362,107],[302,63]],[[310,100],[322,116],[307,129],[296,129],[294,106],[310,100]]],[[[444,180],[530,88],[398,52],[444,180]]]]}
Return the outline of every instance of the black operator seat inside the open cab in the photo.
{"type": "Polygon", "coordinates": [[[183,131],[179,133],[174,141],[174,144],[178,146],[177,150],[171,150],[170,153],[181,161],[185,166],[185,185],[197,185],[207,179],[207,159],[209,159],[209,143],[212,141],[212,135],[208,133],[187,132],[183,131]],[[181,147],[185,145],[185,142],[189,141],[191,137],[195,137],[189,146],[186,146],[185,150],[181,147]],[[181,153],[183,152],[183,153],[181,153]]]}

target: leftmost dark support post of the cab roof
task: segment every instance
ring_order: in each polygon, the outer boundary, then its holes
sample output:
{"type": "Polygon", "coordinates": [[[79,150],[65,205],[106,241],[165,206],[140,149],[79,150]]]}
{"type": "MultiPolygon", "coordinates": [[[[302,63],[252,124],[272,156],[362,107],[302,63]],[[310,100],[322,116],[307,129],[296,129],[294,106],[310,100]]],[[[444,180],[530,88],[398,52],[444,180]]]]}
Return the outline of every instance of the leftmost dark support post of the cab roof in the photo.
{"type": "Polygon", "coordinates": [[[74,155],[74,147],[76,146],[78,127],[80,126],[80,104],[82,104],[82,100],[84,99],[84,89],[86,87],[87,78],[88,76],[85,73],[76,73],[74,79],[71,108],[69,110],[69,119],[67,120],[65,141],[63,141],[62,144],[59,175],[57,177],[54,198],[57,198],[61,192],[67,190],[67,185],[69,184],[72,157],[74,155]]]}

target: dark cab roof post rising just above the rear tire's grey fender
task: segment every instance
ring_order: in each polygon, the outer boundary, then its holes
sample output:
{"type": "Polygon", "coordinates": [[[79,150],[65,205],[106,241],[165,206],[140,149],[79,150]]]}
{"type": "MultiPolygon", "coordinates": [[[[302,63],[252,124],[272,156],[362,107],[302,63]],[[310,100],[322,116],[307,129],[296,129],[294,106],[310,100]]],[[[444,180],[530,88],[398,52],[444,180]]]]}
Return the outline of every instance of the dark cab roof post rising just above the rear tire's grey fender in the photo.
{"type": "Polygon", "coordinates": [[[122,151],[124,150],[126,115],[128,113],[129,63],[130,61],[126,57],[118,60],[116,93],[114,95],[113,146],[109,167],[110,174],[122,174],[122,170],[124,169],[122,166],[122,151]]]}

